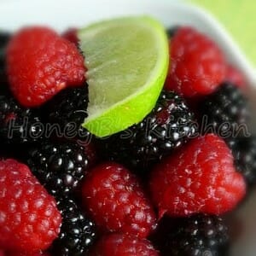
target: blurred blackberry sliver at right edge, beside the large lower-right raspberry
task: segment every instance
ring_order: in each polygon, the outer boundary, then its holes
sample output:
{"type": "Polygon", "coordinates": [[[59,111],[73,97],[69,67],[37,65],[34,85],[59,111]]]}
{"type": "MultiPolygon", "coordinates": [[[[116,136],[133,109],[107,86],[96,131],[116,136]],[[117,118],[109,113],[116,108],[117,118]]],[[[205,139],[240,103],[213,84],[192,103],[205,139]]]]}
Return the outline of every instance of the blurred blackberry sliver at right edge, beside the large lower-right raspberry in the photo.
{"type": "Polygon", "coordinates": [[[226,139],[235,158],[237,171],[248,185],[256,183],[256,137],[233,137],[226,139]]]}

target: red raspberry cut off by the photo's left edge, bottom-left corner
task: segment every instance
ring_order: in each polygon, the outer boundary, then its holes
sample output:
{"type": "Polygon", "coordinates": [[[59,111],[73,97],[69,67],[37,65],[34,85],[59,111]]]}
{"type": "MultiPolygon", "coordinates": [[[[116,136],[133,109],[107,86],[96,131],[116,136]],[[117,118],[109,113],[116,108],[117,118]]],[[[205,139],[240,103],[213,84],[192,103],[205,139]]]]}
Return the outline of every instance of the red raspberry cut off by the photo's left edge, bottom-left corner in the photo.
{"type": "Polygon", "coordinates": [[[58,236],[61,213],[55,200],[16,160],[0,161],[0,247],[37,252],[58,236]]]}

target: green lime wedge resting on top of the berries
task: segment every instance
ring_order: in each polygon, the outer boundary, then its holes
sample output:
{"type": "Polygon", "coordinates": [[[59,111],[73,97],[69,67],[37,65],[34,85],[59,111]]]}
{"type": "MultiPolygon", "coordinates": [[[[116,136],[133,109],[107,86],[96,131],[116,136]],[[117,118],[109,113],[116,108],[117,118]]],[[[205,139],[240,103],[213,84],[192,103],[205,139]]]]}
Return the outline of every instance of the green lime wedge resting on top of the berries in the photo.
{"type": "Polygon", "coordinates": [[[89,84],[83,126],[106,137],[140,122],[166,79],[165,28],[148,16],[105,20],[79,30],[89,84]]]}

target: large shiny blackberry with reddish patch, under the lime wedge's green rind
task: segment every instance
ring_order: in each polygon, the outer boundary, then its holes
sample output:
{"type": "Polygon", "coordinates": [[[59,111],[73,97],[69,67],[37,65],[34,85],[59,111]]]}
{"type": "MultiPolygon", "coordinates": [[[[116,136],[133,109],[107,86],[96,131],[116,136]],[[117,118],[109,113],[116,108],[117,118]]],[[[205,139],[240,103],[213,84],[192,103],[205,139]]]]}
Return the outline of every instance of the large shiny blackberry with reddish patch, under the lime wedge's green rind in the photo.
{"type": "Polygon", "coordinates": [[[196,128],[194,114],[183,98],[175,92],[163,91],[152,112],[142,122],[98,140],[98,145],[108,160],[146,171],[195,135],[196,128]]]}

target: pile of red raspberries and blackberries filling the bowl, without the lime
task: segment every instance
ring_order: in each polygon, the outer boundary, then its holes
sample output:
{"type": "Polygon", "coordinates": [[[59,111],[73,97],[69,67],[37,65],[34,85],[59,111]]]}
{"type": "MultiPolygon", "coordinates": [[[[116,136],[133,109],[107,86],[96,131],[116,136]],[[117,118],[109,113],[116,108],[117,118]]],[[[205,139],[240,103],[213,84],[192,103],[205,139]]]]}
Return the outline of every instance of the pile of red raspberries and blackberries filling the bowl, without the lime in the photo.
{"type": "Polygon", "coordinates": [[[113,60],[86,55],[77,29],[0,34],[1,256],[228,255],[226,216],[256,183],[246,79],[195,28],[165,37],[153,109],[99,137],[82,125],[102,83],[88,59],[113,60]]]}

